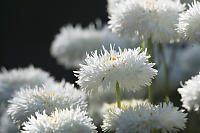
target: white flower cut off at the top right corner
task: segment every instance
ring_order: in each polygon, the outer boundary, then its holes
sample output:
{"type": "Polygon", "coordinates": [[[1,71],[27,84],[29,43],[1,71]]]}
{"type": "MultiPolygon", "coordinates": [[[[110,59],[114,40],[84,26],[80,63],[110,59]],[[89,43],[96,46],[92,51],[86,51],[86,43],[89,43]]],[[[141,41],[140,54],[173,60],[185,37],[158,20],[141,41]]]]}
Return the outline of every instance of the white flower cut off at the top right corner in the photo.
{"type": "Polygon", "coordinates": [[[186,39],[200,42],[200,2],[194,0],[189,9],[180,14],[177,31],[186,39]]]}

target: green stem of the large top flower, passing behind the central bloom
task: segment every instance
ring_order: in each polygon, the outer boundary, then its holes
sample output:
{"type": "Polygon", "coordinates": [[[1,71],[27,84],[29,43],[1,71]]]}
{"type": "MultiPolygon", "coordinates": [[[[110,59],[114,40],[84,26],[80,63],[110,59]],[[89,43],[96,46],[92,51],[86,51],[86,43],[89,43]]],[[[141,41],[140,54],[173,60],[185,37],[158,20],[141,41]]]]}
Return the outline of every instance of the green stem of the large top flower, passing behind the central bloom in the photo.
{"type": "MultiPolygon", "coordinates": [[[[148,39],[148,54],[151,56],[149,58],[149,63],[153,60],[153,44],[151,38],[148,39]]],[[[148,88],[149,101],[153,103],[153,82],[148,88]]]]}

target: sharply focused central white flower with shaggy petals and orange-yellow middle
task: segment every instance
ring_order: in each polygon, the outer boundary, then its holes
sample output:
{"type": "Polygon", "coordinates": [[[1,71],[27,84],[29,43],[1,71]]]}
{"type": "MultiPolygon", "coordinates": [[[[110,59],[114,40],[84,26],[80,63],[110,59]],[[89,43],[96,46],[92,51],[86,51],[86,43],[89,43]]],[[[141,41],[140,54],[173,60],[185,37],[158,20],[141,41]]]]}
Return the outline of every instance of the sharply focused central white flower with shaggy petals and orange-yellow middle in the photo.
{"type": "Polygon", "coordinates": [[[141,90],[143,86],[149,86],[157,74],[152,68],[155,64],[148,63],[150,56],[146,56],[146,52],[141,52],[139,47],[124,51],[119,48],[117,52],[110,46],[110,51],[103,47],[99,55],[97,50],[87,54],[85,64],[75,71],[77,83],[88,92],[115,91],[116,82],[121,89],[141,90]]]}

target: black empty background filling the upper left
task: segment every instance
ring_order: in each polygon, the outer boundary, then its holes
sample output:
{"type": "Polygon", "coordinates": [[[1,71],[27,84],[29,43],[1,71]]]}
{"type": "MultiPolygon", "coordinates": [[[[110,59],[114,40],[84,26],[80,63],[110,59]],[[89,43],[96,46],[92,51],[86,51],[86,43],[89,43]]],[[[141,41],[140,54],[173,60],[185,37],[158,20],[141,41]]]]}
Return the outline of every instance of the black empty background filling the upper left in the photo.
{"type": "Polygon", "coordinates": [[[1,0],[0,67],[12,69],[33,64],[57,80],[74,82],[51,57],[49,48],[59,29],[72,23],[88,26],[100,18],[106,23],[106,0],[1,0]]]}

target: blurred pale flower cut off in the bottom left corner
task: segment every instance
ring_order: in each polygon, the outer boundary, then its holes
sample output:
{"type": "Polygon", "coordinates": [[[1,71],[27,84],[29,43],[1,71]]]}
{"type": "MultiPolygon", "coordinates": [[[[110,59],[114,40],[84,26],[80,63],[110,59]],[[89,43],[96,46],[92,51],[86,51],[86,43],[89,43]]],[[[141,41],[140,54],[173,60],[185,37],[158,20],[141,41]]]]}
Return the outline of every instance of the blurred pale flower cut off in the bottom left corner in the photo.
{"type": "Polygon", "coordinates": [[[19,133],[16,125],[12,122],[5,111],[0,118],[0,133],[19,133]]]}

